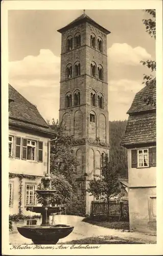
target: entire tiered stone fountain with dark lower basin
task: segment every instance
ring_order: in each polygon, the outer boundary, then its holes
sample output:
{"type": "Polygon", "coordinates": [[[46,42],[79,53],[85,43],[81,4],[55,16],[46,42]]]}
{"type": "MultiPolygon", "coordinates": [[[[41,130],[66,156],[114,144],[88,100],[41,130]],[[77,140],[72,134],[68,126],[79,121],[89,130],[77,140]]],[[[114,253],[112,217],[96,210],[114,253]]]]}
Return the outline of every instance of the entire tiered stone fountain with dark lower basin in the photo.
{"type": "Polygon", "coordinates": [[[43,198],[42,206],[30,206],[27,210],[40,213],[42,216],[41,225],[26,225],[17,227],[18,232],[25,238],[32,239],[34,244],[56,244],[59,239],[70,234],[74,227],[64,224],[51,225],[50,215],[65,210],[64,206],[51,206],[51,199],[56,194],[56,189],[51,189],[51,178],[45,174],[41,179],[43,189],[36,190],[36,193],[43,198]]]}

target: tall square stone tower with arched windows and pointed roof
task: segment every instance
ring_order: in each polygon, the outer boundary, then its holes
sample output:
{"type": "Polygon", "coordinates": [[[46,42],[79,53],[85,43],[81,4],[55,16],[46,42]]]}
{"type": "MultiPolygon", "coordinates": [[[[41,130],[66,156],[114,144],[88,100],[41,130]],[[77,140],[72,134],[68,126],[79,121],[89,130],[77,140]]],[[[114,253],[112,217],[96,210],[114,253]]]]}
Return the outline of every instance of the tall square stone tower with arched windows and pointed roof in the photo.
{"type": "Polygon", "coordinates": [[[109,153],[107,34],[110,32],[85,13],[58,30],[62,34],[60,110],[66,133],[73,136],[79,201],[90,213],[94,200],[86,192],[100,174],[109,153]]]}

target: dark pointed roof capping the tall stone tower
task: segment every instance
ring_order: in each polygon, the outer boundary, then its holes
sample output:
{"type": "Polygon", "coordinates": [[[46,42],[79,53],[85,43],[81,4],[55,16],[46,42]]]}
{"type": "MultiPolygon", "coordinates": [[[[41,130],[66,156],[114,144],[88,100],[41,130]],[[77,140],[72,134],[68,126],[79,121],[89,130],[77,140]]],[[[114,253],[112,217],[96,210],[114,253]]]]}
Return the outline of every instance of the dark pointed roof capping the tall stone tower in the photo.
{"type": "Polygon", "coordinates": [[[60,32],[60,33],[63,33],[64,31],[66,31],[66,30],[68,30],[70,28],[73,28],[74,26],[76,26],[78,24],[85,23],[85,22],[88,22],[88,23],[94,25],[96,28],[100,29],[101,31],[103,31],[106,34],[110,34],[111,33],[110,31],[108,31],[107,29],[103,28],[98,23],[96,23],[95,20],[91,19],[85,13],[83,13],[82,15],[80,15],[79,17],[74,19],[73,22],[69,23],[65,27],[63,27],[61,29],[58,29],[57,31],[60,32]]]}

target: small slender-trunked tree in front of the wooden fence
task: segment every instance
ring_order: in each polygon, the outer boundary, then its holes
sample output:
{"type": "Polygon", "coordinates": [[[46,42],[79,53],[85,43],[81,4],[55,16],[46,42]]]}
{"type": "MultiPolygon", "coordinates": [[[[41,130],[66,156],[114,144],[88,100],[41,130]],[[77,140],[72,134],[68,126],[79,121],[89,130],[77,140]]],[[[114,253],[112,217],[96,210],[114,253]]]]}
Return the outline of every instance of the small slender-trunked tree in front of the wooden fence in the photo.
{"type": "Polygon", "coordinates": [[[120,192],[120,185],[118,180],[118,172],[116,165],[109,162],[108,155],[106,154],[104,165],[101,169],[101,177],[95,176],[95,179],[90,181],[89,188],[87,188],[90,196],[95,196],[97,199],[106,200],[108,204],[109,216],[109,200],[117,196],[120,192]],[[97,178],[96,178],[97,177],[97,178]]]}

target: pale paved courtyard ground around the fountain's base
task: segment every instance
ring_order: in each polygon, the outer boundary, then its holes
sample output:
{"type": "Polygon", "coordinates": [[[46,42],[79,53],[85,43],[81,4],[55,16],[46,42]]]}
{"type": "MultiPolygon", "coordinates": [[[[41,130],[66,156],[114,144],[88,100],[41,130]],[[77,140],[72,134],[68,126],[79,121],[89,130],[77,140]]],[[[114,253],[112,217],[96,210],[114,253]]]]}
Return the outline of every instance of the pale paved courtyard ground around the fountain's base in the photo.
{"type": "MultiPolygon", "coordinates": [[[[84,218],[79,216],[61,216],[61,219],[59,216],[55,216],[56,224],[62,223],[62,224],[68,224],[73,225],[74,230],[69,236],[67,236],[64,239],[60,239],[60,243],[67,243],[72,240],[79,240],[84,239],[88,237],[95,237],[95,236],[116,236],[120,239],[142,239],[144,241],[148,241],[151,243],[156,242],[156,236],[147,235],[144,233],[139,232],[123,232],[120,230],[110,229],[110,228],[104,228],[99,227],[96,225],[91,225],[86,222],[82,222],[84,218]]],[[[38,223],[39,224],[39,223],[38,223]]],[[[26,225],[26,224],[19,224],[26,225]]],[[[32,241],[30,239],[22,237],[18,232],[16,232],[16,226],[14,227],[14,231],[10,233],[9,236],[9,243],[10,244],[31,244],[32,241]]]]}

